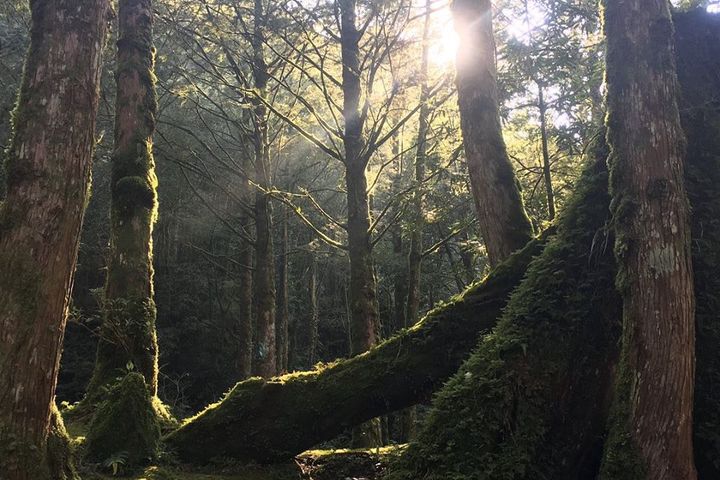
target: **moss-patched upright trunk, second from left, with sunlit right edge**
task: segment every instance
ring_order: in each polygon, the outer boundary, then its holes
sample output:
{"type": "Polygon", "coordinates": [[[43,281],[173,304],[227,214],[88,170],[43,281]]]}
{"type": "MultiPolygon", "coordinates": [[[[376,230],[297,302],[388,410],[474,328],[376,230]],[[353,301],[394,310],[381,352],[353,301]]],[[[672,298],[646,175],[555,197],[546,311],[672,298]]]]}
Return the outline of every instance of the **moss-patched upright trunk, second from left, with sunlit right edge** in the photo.
{"type": "Polygon", "coordinates": [[[152,153],[155,96],[151,0],[121,0],[118,10],[115,150],[112,157],[110,252],[104,317],[87,400],[100,399],[132,363],[157,393],[152,233],[157,177],[152,153]]]}

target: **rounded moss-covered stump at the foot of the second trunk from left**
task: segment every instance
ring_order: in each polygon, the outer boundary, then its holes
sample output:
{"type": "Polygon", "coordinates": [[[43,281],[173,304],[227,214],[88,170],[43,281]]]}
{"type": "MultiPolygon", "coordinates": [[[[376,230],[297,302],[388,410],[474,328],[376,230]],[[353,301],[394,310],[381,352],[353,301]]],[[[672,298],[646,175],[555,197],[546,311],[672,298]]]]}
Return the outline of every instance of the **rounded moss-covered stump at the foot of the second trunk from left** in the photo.
{"type": "Polygon", "coordinates": [[[85,459],[107,465],[122,458],[122,468],[133,471],[157,457],[160,421],[152,397],[139,373],[127,374],[114,386],[95,412],[85,442],[85,459]]]}

